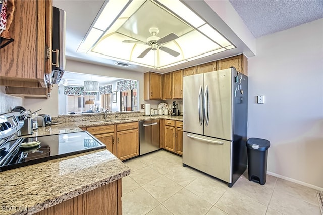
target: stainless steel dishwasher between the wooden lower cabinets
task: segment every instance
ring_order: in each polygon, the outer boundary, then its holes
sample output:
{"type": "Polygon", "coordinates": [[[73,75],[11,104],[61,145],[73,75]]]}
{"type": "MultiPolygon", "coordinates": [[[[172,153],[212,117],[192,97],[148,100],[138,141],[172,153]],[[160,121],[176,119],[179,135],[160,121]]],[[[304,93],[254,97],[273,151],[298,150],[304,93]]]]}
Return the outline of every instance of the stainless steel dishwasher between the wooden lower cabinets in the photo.
{"type": "Polygon", "coordinates": [[[139,155],[159,150],[159,119],[144,120],[139,124],[139,155]]]}

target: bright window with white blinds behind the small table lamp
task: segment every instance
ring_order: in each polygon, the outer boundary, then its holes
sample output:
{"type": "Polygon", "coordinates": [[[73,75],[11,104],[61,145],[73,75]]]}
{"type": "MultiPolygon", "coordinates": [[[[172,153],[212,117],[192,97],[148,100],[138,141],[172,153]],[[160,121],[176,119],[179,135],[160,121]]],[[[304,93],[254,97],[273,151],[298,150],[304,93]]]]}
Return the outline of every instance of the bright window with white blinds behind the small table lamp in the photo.
{"type": "MultiPolygon", "coordinates": [[[[67,113],[83,113],[92,109],[92,105],[85,105],[85,101],[89,99],[95,100],[95,95],[67,95],[67,113]]],[[[93,104],[94,108],[94,104],[93,104]]]]}

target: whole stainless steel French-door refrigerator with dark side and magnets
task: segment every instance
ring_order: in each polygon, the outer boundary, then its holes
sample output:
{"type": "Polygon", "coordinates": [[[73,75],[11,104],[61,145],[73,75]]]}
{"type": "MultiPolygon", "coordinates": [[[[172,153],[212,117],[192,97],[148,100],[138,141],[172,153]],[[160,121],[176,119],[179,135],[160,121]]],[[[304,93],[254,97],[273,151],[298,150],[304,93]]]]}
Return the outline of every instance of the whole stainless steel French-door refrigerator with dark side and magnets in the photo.
{"type": "Polygon", "coordinates": [[[183,166],[231,187],[247,167],[247,76],[234,68],[185,76],[183,93],[183,166]]]}

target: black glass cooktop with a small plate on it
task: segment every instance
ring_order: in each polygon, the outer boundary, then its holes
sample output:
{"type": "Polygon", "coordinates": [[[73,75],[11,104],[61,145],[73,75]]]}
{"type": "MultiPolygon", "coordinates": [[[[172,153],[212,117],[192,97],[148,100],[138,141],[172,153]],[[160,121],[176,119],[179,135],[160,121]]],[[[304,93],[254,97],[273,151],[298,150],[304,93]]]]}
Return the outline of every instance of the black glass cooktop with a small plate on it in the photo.
{"type": "Polygon", "coordinates": [[[19,138],[0,146],[0,171],[102,148],[106,146],[87,131],[19,138]],[[31,148],[19,146],[33,141],[39,141],[40,145],[31,148]]]}

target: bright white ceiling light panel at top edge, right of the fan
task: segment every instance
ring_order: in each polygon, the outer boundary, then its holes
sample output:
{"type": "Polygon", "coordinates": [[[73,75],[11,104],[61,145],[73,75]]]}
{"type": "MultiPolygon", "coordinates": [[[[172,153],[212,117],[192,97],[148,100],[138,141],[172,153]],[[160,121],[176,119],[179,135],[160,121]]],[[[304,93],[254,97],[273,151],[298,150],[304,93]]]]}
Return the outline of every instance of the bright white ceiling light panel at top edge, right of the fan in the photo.
{"type": "Polygon", "coordinates": [[[202,20],[199,16],[197,16],[193,11],[187,8],[180,1],[160,0],[158,2],[165,5],[167,8],[172,10],[174,13],[176,13],[182,19],[186,20],[189,24],[191,24],[195,28],[198,28],[199,26],[205,24],[204,20],[202,20]]]}

